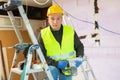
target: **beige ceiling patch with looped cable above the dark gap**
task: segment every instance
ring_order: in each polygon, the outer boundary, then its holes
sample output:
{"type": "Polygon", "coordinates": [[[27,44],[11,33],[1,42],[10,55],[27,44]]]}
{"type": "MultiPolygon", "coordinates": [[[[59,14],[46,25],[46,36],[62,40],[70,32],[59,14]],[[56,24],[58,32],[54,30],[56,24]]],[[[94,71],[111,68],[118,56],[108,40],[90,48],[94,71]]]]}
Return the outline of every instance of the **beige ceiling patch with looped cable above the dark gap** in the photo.
{"type": "MultiPolygon", "coordinates": [[[[0,2],[7,2],[9,0],[0,0],[0,2]]],[[[22,0],[24,5],[45,8],[52,4],[52,0],[22,0]]]]}

